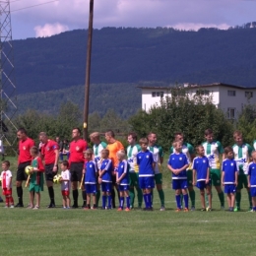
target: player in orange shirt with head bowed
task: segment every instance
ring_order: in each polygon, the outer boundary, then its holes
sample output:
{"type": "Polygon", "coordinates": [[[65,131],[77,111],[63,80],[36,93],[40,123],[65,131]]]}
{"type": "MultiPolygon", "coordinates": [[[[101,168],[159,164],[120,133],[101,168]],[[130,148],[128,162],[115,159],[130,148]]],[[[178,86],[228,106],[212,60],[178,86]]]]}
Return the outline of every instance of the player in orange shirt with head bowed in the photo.
{"type": "MultiPolygon", "coordinates": [[[[108,130],[105,132],[105,140],[107,142],[107,147],[106,149],[109,150],[109,159],[112,160],[112,166],[113,166],[113,170],[112,170],[112,206],[113,208],[115,208],[115,191],[114,191],[114,187],[117,190],[118,193],[118,189],[116,186],[116,170],[117,170],[117,166],[118,166],[118,160],[116,157],[116,153],[118,151],[122,151],[124,150],[123,145],[117,141],[115,139],[115,135],[114,132],[112,130],[108,130]]],[[[118,193],[118,197],[119,197],[119,193],[118,193]]]]}

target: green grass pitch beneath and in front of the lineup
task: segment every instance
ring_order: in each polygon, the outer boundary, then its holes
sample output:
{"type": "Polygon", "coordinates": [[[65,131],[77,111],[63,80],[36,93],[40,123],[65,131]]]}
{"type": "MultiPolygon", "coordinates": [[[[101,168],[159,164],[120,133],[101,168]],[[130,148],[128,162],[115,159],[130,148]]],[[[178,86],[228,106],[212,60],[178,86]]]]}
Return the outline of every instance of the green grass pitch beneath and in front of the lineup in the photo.
{"type": "MultiPolygon", "coordinates": [[[[243,212],[221,211],[215,190],[214,211],[200,212],[196,189],[198,211],[175,213],[169,180],[169,173],[164,171],[165,212],[159,211],[156,191],[153,212],[63,210],[59,185],[55,186],[55,209],[46,209],[47,189],[41,193],[38,211],[4,209],[1,203],[0,255],[256,255],[256,215],[246,212],[244,190],[243,212]]],[[[13,191],[17,203],[16,187],[13,191]]],[[[27,204],[28,189],[24,188],[24,194],[27,204]]]]}

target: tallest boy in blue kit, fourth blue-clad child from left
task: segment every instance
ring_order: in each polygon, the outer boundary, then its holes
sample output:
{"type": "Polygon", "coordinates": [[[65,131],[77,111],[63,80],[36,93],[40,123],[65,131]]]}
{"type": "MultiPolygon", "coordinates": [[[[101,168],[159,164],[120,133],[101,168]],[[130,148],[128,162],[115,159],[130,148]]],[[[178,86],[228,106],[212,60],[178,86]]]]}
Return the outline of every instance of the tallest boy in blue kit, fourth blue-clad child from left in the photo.
{"type": "Polygon", "coordinates": [[[155,187],[155,165],[153,154],[148,150],[149,141],[147,138],[142,138],[139,141],[141,151],[137,154],[137,164],[139,165],[139,184],[143,191],[145,202],[144,211],[153,211],[152,194],[155,187]]]}

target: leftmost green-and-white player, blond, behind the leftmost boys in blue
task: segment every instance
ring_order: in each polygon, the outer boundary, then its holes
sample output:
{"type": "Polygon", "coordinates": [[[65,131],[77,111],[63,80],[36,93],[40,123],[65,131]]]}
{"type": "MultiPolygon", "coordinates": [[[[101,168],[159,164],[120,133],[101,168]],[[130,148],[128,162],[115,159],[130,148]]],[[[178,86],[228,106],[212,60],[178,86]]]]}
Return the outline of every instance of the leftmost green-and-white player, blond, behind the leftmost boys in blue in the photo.
{"type": "MultiPolygon", "coordinates": [[[[97,168],[100,168],[99,160],[101,158],[101,151],[106,148],[106,143],[100,141],[99,133],[94,132],[90,134],[90,140],[94,143],[94,160],[96,161],[97,168]]],[[[97,181],[96,181],[97,182],[97,181]]],[[[96,207],[98,207],[98,201],[100,198],[100,185],[96,183],[96,207]]]]}

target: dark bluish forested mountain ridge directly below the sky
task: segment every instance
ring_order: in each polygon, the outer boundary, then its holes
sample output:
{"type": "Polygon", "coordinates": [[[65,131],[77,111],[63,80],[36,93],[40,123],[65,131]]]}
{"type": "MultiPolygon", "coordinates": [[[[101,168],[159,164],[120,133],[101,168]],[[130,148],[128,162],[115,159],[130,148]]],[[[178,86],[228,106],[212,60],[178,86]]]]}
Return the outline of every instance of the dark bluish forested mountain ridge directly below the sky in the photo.
{"type": "MultiPolygon", "coordinates": [[[[92,83],[223,82],[256,86],[255,45],[256,28],[246,27],[198,32],[166,28],[95,30],[92,83]]],[[[83,85],[86,48],[85,30],[15,40],[18,94],[83,85]]]]}

